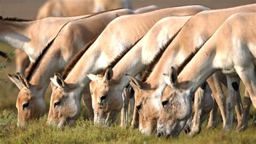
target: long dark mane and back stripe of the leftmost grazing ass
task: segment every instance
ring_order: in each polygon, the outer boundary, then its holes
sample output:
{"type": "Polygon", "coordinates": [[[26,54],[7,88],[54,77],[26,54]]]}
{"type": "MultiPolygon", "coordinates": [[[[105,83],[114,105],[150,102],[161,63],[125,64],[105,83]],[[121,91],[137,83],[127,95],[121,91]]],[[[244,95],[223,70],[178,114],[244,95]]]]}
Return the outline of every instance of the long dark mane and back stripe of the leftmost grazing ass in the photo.
{"type": "MultiPolygon", "coordinates": [[[[116,9],[118,10],[118,9],[116,9]]],[[[113,10],[109,10],[109,11],[113,11],[113,10]]],[[[39,61],[41,61],[43,59],[43,56],[44,54],[48,51],[48,49],[50,48],[51,44],[54,42],[54,40],[57,38],[57,36],[59,35],[60,31],[64,28],[64,26],[66,26],[67,24],[71,23],[71,22],[74,22],[76,20],[80,20],[80,19],[84,19],[84,18],[89,18],[89,17],[92,17],[92,16],[96,16],[96,15],[99,15],[101,13],[104,13],[104,12],[109,12],[109,11],[103,11],[103,12],[98,12],[98,13],[95,13],[93,15],[90,15],[90,16],[85,16],[85,17],[82,17],[82,18],[78,18],[78,19],[73,19],[73,20],[70,20],[69,22],[65,23],[62,28],[59,29],[57,35],[48,43],[46,44],[46,46],[44,47],[44,49],[42,50],[42,52],[39,54],[39,56],[37,57],[35,63],[32,63],[30,65],[30,67],[28,68],[28,72],[26,74],[26,79],[27,80],[30,80],[30,78],[32,77],[32,73],[36,70],[36,67],[37,65],[39,64],[39,61]]]]}

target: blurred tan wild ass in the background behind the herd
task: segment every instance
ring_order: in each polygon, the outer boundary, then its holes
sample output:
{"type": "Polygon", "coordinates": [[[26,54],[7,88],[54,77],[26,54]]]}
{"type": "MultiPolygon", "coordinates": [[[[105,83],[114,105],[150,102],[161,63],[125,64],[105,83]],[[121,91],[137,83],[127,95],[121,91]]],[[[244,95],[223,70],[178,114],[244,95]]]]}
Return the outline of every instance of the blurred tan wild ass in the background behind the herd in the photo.
{"type": "Polygon", "coordinates": [[[36,19],[45,17],[71,17],[118,8],[131,9],[129,0],[53,0],[39,8],[36,19]]]}

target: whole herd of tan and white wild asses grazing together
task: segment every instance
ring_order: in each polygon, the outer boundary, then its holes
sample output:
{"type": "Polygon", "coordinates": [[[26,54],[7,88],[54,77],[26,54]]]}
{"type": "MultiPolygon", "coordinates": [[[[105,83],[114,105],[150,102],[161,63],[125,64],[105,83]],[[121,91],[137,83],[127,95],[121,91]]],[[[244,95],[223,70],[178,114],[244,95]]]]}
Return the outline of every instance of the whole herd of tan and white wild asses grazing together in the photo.
{"type": "Polygon", "coordinates": [[[224,130],[233,129],[234,110],[236,130],[248,127],[256,4],[131,10],[129,0],[77,1],[47,1],[35,20],[0,16],[1,42],[25,52],[16,52],[17,73],[8,74],[20,90],[18,126],[47,113],[51,84],[47,124],[58,128],[75,124],[81,98],[95,124],[109,126],[121,112],[121,126],[147,135],[197,135],[208,116],[207,128],[217,126],[218,108],[224,130]],[[81,1],[88,4],[78,8],[81,1]]]}

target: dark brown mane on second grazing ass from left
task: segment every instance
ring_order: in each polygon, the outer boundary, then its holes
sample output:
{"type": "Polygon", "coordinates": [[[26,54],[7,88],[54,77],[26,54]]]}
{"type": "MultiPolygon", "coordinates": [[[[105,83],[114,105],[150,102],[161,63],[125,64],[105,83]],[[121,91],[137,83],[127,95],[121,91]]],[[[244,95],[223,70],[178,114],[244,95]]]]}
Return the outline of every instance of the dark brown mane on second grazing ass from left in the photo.
{"type": "Polygon", "coordinates": [[[83,54],[86,52],[86,50],[95,42],[96,38],[91,39],[82,50],[80,50],[75,57],[70,61],[70,63],[66,66],[64,72],[62,73],[62,78],[65,79],[72,68],[77,64],[77,61],[83,56],[83,54]]]}

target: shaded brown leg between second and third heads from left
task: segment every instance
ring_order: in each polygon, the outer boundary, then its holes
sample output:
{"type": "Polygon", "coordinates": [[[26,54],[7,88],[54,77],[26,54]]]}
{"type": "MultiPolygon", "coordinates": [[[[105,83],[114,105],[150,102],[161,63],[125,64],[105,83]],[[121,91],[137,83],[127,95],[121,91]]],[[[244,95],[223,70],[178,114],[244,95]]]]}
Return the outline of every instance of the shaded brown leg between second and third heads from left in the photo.
{"type": "Polygon", "coordinates": [[[93,112],[93,109],[92,109],[92,98],[91,98],[90,86],[89,85],[84,87],[83,102],[84,102],[85,107],[87,108],[87,112],[88,112],[88,115],[89,115],[89,120],[93,121],[94,112],[93,112]]]}

